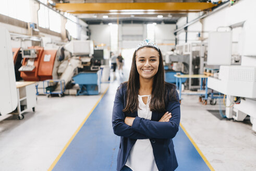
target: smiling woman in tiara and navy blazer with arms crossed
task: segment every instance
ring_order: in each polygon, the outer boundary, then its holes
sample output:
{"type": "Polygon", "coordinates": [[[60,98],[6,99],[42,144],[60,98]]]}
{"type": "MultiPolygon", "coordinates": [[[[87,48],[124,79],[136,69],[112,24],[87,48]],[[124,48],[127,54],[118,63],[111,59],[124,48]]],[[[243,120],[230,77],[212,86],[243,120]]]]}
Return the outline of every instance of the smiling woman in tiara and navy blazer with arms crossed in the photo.
{"type": "Polygon", "coordinates": [[[179,96],[164,81],[159,47],[146,39],[133,54],[128,82],[117,89],[112,124],[120,136],[117,170],[175,170],[172,138],[180,121],[179,96]]]}

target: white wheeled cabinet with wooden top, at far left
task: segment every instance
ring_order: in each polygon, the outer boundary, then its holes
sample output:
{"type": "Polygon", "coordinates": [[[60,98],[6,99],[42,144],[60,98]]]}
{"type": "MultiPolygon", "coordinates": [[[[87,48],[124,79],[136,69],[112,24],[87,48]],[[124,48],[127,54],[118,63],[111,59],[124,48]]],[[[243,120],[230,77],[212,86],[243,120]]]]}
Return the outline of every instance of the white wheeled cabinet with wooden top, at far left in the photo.
{"type": "Polygon", "coordinates": [[[25,82],[16,82],[17,95],[18,95],[18,107],[11,114],[18,114],[19,119],[23,119],[24,112],[27,112],[32,108],[33,112],[35,111],[36,106],[36,90],[35,82],[25,81],[25,82]]]}

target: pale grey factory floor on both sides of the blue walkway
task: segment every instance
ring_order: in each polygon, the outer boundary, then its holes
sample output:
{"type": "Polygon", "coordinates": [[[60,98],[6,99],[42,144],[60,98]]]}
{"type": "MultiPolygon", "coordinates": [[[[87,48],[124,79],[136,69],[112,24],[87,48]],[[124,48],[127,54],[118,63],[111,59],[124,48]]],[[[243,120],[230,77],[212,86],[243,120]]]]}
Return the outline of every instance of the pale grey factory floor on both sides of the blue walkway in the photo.
{"type": "MultiPolygon", "coordinates": [[[[102,84],[103,91],[107,87],[102,84]]],[[[1,121],[0,170],[47,170],[100,97],[38,96],[35,113],[31,109],[23,120],[1,121]]],[[[181,124],[215,170],[256,170],[256,136],[249,121],[220,120],[207,111],[218,109],[218,103],[182,98],[181,124]]]]}

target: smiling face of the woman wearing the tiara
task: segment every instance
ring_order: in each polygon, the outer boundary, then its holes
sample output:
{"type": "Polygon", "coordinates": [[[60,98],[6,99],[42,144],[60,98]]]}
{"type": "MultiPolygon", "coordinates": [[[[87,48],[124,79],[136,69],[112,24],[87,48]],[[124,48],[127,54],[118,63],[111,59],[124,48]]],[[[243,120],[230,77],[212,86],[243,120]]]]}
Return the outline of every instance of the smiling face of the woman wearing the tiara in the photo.
{"type": "Polygon", "coordinates": [[[154,78],[159,67],[159,52],[151,47],[140,48],[136,52],[136,66],[140,78],[154,78]]]}

